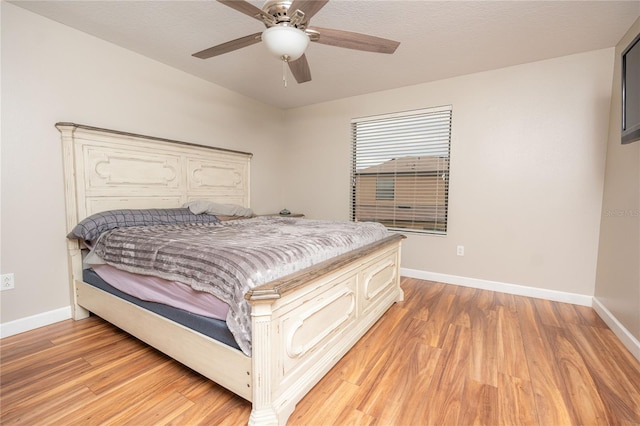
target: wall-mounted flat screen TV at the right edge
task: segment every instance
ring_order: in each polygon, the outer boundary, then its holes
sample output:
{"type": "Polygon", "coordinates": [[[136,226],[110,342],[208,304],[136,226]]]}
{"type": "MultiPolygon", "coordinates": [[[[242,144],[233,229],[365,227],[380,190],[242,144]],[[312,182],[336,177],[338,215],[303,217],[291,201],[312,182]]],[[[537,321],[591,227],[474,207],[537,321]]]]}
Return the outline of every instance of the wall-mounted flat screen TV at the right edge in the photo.
{"type": "Polygon", "coordinates": [[[640,35],[622,52],[622,143],[640,140],[640,35]]]}

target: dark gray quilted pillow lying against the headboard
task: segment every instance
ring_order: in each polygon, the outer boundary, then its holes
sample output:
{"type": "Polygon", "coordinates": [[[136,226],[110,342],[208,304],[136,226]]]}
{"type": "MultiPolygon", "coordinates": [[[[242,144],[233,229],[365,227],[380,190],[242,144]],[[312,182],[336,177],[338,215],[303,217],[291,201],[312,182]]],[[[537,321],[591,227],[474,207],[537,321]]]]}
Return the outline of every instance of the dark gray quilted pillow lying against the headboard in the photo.
{"type": "Polygon", "coordinates": [[[128,226],[173,225],[218,223],[217,217],[209,214],[193,214],[187,208],[108,210],[83,219],[67,235],[67,238],[93,241],[103,232],[128,226]]]}

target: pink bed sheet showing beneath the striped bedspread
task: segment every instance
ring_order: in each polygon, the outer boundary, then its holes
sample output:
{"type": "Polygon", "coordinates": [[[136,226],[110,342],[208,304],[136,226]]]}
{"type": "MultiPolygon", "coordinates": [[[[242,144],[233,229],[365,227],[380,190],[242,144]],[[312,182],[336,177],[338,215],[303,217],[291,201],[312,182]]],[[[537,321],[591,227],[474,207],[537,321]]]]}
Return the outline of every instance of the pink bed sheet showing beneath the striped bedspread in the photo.
{"type": "Polygon", "coordinates": [[[148,302],[163,303],[174,308],[225,321],[229,305],[213,294],[198,291],[177,281],[150,275],[139,275],[110,265],[93,265],[93,270],[111,286],[123,293],[148,302]]]}

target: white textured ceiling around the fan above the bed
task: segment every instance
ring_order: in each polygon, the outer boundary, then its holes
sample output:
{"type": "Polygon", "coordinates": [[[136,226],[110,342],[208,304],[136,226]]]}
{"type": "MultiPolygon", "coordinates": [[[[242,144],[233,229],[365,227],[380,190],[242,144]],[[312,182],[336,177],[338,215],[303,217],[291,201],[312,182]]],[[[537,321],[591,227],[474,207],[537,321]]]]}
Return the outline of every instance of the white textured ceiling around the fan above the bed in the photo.
{"type": "Polygon", "coordinates": [[[612,47],[640,16],[640,0],[331,0],[312,26],[400,47],[385,55],[311,43],[313,80],[297,84],[289,75],[285,88],[281,62],[261,43],[206,60],[191,56],[264,29],[213,0],[11,3],[280,108],[612,47]]]}

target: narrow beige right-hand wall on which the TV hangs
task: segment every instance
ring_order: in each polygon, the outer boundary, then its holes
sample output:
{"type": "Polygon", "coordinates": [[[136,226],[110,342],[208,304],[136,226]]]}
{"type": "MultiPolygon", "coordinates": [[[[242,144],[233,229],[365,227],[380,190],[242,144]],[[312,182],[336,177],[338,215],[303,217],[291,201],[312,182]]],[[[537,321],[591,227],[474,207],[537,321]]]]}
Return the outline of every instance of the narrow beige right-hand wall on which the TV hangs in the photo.
{"type": "Polygon", "coordinates": [[[620,143],[620,57],[638,34],[640,19],[615,53],[595,296],[640,340],[640,142],[620,143]]]}

